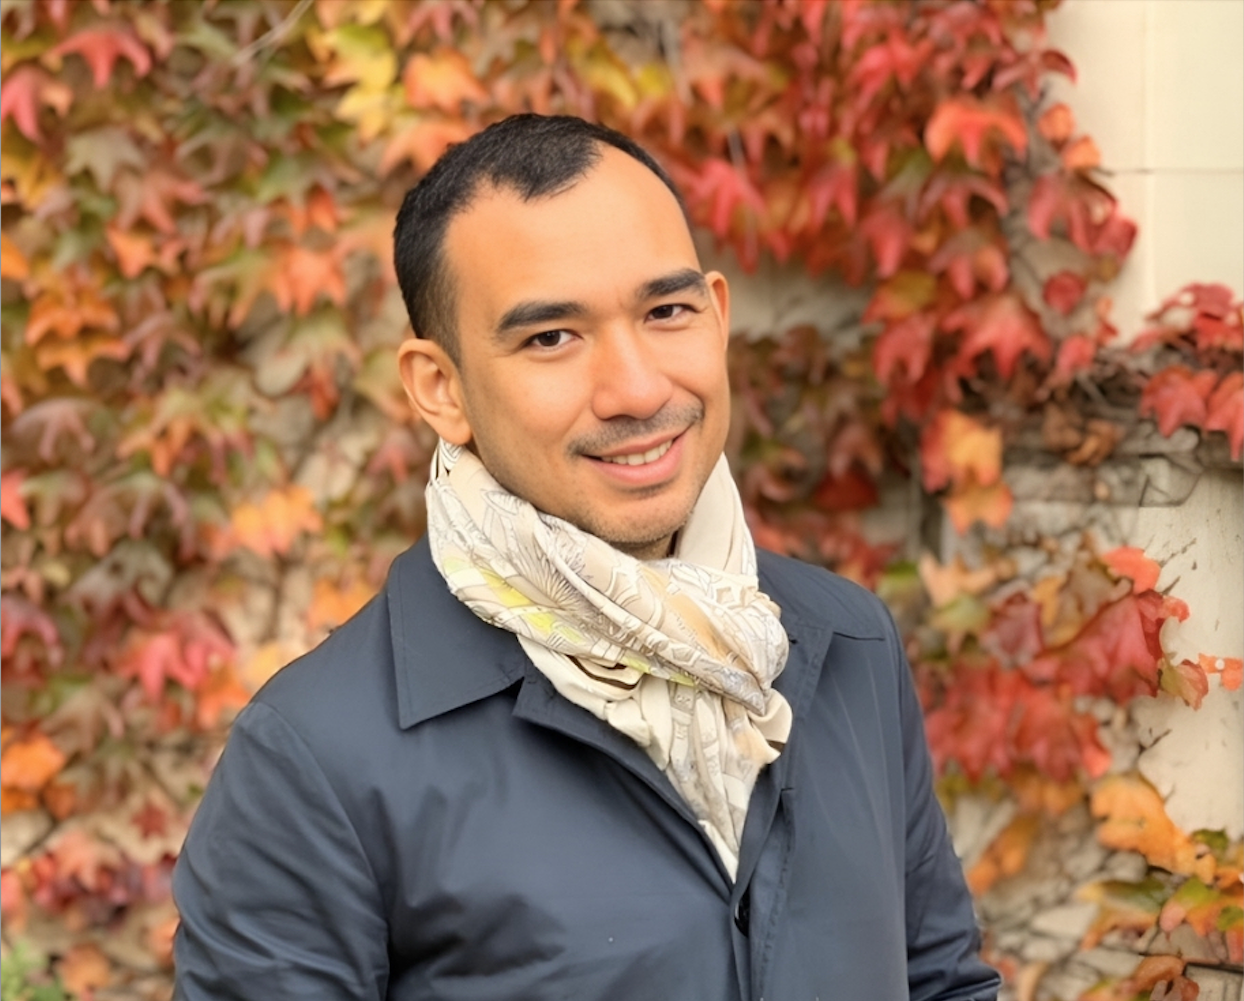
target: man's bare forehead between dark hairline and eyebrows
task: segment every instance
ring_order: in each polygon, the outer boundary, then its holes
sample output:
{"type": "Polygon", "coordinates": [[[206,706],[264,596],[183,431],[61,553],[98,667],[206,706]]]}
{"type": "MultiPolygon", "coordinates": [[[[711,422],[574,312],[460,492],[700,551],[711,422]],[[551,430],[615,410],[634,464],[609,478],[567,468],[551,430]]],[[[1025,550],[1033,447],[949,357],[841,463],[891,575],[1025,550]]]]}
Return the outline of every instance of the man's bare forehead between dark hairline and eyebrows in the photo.
{"type": "Polygon", "coordinates": [[[485,332],[516,302],[607,308],[663,274],[699,262],[673,193],[612,147],[570,188],[524,201],[479,191],[445,233],[459,338],[485,332]]]}

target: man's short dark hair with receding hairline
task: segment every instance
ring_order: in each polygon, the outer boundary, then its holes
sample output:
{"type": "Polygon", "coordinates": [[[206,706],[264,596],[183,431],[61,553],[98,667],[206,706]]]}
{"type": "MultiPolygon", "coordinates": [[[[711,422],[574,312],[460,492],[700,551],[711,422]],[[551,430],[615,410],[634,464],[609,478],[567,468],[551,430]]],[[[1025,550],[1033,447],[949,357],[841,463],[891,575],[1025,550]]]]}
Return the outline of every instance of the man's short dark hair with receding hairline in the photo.
{"type": "Polygon", "coordinates": [[[393,266],[417,337],[440,344],[457,363],[458,330],[445,231],[484,184],[508,188],[524,201],[560,194],[612,145],[654,173],[687,206],[669,175],[621,132],[569,114],[514,114],[450,147],[402,201],[393,229],[393,266]]]}

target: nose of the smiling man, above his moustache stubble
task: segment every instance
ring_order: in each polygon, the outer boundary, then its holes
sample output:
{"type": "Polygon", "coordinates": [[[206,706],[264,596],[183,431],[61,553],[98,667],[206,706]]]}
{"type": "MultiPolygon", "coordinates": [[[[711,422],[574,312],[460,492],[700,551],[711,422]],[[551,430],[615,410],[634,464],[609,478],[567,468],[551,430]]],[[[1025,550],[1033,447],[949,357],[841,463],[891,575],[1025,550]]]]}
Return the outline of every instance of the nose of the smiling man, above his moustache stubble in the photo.
{"type": "Polygon", "coordinates": [[[659,341],[659,334],[628,325],[600,334],[592,359],[592,412],[598,419],[646,420],[669,402],[673,382],[659,341]]]}

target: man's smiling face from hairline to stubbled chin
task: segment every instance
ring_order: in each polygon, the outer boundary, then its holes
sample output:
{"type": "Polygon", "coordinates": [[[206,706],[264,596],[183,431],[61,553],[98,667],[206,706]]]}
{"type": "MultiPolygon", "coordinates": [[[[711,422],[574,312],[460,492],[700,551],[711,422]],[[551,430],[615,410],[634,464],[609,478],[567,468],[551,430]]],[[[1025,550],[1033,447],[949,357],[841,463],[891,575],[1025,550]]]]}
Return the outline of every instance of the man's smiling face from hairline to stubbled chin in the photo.
{"type": "Polygon", "coordinates": [[[667,555],[729,424],[725,279],[700,274],[673,195],[607,148],[551,198],[480,193],[445,256],[464,413],[450,434],[541,511],[667,555]]]}

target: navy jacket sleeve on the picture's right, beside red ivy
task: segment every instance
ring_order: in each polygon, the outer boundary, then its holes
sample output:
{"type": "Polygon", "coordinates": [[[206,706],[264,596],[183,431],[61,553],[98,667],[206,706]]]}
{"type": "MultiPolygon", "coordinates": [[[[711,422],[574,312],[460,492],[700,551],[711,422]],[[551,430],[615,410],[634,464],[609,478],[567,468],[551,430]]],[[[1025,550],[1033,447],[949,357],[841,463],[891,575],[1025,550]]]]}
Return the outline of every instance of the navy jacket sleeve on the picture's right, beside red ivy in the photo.
{"type": "Polygon", "coordinates": [[[924,716],[898,632],[889,623],[902,699],[907,782],[907,982],[911,1001],[994,1001],[1000,977],[980,959],[963,864],[933,793],[924,716]]]}

